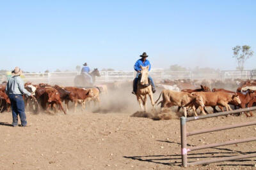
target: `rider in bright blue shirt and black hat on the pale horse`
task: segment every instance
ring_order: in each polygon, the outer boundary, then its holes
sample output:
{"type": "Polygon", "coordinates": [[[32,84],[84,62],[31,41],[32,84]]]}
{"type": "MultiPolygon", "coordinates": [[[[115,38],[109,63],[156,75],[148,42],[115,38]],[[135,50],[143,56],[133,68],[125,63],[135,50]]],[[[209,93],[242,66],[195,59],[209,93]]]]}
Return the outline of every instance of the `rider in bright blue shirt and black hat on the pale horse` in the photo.
{"type": "MultiPolygon", "coordinates": [[[[150,64],[149,60],[147,60],[147,57],[148,57],[147,53],[143,52],[143,54],[140,55],[140,57],[141,57],[141,59],[138,59],[136,61],[136,63],[134,64],[134,69],[135,69],[135,71],[137,71],[137,74],[136,74],[136,78],[134,78],[134,81],[133,81],[132,94],[136,94],[137,83],[138,83],[138,79],[139,79],[140,71],[141,71],[140,66],[143,66],[143,67],[149,66],[148,71],[150,71],[150,68],[151,68],[151,64],[150,64]]],[[[150,83],[152,85],[152,92],[155,93],[156,92],[156,87],[154,85],[153,79],[149,75],[148,75],[148,78],[149,78],[150,83]]]]}

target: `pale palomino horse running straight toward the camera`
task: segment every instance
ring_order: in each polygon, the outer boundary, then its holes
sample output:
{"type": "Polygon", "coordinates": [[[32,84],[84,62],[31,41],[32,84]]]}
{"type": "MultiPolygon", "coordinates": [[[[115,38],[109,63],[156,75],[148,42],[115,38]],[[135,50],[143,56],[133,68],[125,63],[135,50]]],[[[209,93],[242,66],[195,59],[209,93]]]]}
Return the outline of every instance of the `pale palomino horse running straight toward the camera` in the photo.
{"type": "Polygon", "coordinates": [[[152,87],[148,83],[148,68],[149,66],[141,67],[141,74],[140,74],[140,83],[137,85],[137,91],[136,91],[136,97],[138,102],[140,103],[140,108],[143,111],[146,111],[146,101],[147,101],[147,95],[150,97],[151,104],[153,106],[154,110],[154,99],[153,99],[153,92],[152,87]]]}

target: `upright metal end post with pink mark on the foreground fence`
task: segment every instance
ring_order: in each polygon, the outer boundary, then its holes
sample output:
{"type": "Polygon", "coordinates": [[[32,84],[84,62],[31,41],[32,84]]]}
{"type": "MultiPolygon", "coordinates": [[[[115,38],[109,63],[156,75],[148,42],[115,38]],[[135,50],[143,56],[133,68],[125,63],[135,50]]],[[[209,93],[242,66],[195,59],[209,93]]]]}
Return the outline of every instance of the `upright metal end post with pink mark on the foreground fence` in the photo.
{"type": "Polygon", "coordinates": [[[181,137],[181,157],[182,157],[182,166],[188,166],[188,158],[187,158],[187,125],[186,125],[186,117],[180,118],[180,137],[181,137]]]}

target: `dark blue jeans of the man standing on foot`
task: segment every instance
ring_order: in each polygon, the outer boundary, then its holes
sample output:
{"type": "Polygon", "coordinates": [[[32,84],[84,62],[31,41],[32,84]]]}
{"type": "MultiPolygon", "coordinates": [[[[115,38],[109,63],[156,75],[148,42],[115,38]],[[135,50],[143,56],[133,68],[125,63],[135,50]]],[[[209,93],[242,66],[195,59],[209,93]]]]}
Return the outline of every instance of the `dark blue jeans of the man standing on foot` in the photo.
{"type": "Polygon", "coordinates": [[[9,95],[12,106],[12,125],[18,125],[18,115],[20,116],[20,122],[22,126],[27,125],[25,104],[21,94],[10,94],[9,95]]]}

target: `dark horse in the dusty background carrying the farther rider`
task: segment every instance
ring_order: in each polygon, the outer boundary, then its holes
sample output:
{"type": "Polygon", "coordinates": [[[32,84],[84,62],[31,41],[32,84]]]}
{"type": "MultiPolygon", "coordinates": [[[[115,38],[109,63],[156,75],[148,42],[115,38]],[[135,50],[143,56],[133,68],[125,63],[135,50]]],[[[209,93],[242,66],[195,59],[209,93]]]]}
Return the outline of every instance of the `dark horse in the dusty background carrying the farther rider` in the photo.
{"type": "Polygon", "coordinates": [[[89,74],[90,74],[90,76],[92,76],[93,83],[88,82],[88,80],[86,80],[86,78],[84,78],[83,74],[79,74],[74,79],[74,85],[76,87],[92,87],[93,84],[95,83],[95,77],[100,76],[100,72],[96,68],[96,69],[93,69],[93,71],[89,74]]]}

